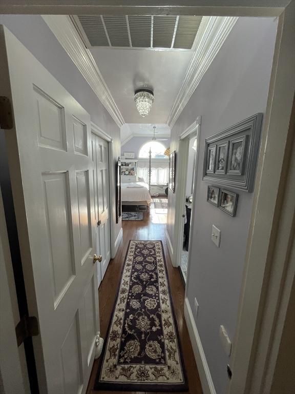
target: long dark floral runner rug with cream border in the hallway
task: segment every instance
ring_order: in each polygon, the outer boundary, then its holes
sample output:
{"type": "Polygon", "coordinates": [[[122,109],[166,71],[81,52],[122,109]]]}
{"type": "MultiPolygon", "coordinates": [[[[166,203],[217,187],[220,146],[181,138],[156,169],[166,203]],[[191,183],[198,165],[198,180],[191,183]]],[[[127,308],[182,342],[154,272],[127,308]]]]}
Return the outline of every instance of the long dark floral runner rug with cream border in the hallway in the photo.
{"type": "Polygon", "coordinates": [[[94,388],[187,391],[161,241],[130,241],[94,388]]]}

